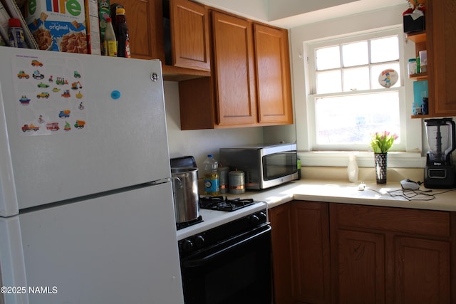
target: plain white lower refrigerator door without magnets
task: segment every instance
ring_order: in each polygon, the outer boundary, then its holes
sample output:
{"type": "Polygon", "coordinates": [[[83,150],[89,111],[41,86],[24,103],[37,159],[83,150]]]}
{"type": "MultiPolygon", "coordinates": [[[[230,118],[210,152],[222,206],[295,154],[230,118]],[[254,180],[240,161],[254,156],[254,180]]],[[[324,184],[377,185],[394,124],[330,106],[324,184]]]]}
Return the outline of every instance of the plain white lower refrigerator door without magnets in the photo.
{"type": "Polygon", "coordinates": [[[19,215],[28,302],[183,303],[171,196],[167,182],[19,215]]]}

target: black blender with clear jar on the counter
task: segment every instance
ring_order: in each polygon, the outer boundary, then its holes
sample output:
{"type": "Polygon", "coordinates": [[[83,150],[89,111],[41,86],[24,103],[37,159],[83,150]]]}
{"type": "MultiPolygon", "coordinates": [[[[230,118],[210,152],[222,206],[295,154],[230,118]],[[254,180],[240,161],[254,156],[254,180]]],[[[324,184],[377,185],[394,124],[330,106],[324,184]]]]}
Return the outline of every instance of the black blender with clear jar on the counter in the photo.
{"type": "Polygon", "coordinates": [[[425,120],[427,145],[425,187],[451,189],[456,186],[452,154],[456,149],[452,118],[425,120]]]}

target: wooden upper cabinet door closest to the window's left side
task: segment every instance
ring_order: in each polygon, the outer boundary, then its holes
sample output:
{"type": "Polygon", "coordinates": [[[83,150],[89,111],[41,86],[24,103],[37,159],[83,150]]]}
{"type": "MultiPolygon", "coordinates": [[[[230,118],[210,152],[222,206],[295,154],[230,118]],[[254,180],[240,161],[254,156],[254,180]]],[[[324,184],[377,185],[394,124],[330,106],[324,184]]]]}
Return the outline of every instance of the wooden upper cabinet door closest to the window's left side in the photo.
{"type": "Polygon", "coordinates": [[[259,122],[293,123],[288,31],[254,24],[259,122]]]}

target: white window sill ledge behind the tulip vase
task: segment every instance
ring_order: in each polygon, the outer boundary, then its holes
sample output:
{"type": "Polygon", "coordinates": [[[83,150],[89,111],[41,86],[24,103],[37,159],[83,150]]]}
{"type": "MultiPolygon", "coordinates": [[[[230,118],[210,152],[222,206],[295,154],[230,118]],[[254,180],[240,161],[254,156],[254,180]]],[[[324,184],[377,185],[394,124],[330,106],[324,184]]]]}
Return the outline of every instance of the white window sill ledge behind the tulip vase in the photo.
{"type": "MultiPolygon", "coordinates": [[[[313,151],[298,152],[301,166],[306,167],[347,167],[348,155],[355,154],[358,167],[373,167],[373,152],[313,151]]],[[[420,153],[388,152],[388,167],[424,168],[426,157],[420,153]]]]}

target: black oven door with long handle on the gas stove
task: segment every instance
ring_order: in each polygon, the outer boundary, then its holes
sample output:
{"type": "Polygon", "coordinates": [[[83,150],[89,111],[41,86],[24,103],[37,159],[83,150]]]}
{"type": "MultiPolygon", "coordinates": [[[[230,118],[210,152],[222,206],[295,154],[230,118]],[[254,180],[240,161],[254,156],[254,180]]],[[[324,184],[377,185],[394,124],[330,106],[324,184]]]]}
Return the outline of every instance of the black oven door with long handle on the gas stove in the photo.
{"type": "Polygon", "coordinates": [[[181,261],[185,304],[271,303],[271,226],[181,261]]]}

